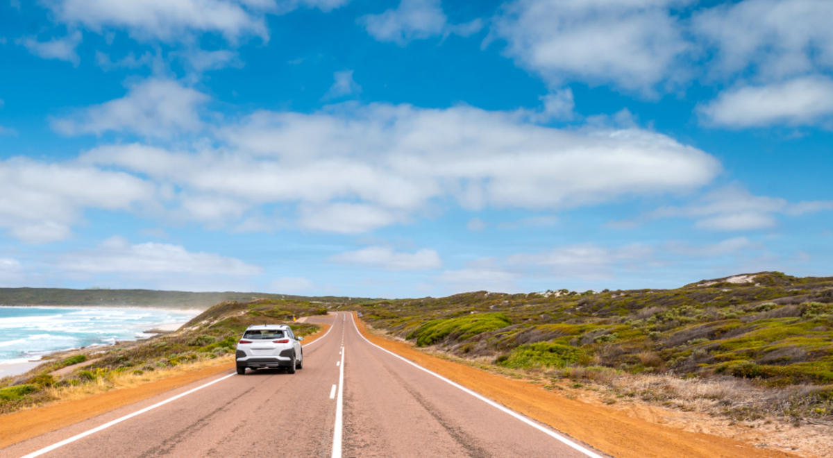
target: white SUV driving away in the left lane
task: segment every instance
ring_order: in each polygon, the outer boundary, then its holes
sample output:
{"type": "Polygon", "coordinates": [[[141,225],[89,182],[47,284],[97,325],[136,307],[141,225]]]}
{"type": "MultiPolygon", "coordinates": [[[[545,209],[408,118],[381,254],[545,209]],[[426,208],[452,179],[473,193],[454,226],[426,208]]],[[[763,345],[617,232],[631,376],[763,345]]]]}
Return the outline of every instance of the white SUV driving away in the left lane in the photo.
{"type": "Polygon", "coordinates": [[[294,374],[304,365],[304,351],[300,341],[287,325],[249,326],[237,342],[237,374],[246,373],[246,368],[285,367],[294,374]]]}

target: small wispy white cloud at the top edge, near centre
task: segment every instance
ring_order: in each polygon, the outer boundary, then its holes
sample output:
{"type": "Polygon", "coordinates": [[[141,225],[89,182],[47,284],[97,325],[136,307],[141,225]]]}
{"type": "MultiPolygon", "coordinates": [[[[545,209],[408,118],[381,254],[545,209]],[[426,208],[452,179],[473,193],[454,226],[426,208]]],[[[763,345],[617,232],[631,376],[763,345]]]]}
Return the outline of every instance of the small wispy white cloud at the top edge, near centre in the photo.
{"type": "Polygon", "coordinates": [[[395,42],[400,46],[412,40],[451,33],[468,37],[483,27],[480,19],[465,24],[449,24],[440,0],[402,0],[397,9],[368,14],[360,17],[358,22],[378,41],[395,42]]]}

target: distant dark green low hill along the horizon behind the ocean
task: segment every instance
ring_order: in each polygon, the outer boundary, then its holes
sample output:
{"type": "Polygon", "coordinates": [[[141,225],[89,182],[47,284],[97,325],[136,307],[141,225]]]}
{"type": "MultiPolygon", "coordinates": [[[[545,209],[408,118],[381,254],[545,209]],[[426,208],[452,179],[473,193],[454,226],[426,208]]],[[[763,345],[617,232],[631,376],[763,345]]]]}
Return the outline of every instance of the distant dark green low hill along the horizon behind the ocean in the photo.
{"type": "Polygon", "coordinates": [[[66,288],[0,288],[0,306],[140,306],[207,309],[224,301],[256,299],[360,303],[355,297],[304,297],[262,292],[188,292],[66,288]]]}

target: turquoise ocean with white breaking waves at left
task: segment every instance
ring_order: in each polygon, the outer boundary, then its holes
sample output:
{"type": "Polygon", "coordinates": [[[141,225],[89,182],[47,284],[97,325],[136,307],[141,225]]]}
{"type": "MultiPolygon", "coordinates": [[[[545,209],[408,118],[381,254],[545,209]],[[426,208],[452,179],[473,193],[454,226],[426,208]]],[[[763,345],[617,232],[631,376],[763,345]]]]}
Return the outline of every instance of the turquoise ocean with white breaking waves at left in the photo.
{"type": "Polygon", "coordinates": [[[0,306],[2,366],[38,360],[54,351],[106,346],[149,337],[166,323],[188,321],[200,311],[119,307],[0,306]]]}

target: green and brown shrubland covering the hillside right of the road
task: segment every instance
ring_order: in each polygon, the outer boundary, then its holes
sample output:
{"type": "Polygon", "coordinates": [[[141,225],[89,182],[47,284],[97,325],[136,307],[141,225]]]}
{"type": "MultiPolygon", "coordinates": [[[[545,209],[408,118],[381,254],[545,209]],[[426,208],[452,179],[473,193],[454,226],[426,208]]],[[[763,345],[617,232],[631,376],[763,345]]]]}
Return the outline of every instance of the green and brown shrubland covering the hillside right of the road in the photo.
{"type": "Polygon", "coordinates": [[[781,272],[674,290],[486,291],[358,305],[372,326],[498,366],[607,367],[833,383],[833,277],[781,272]]]}

